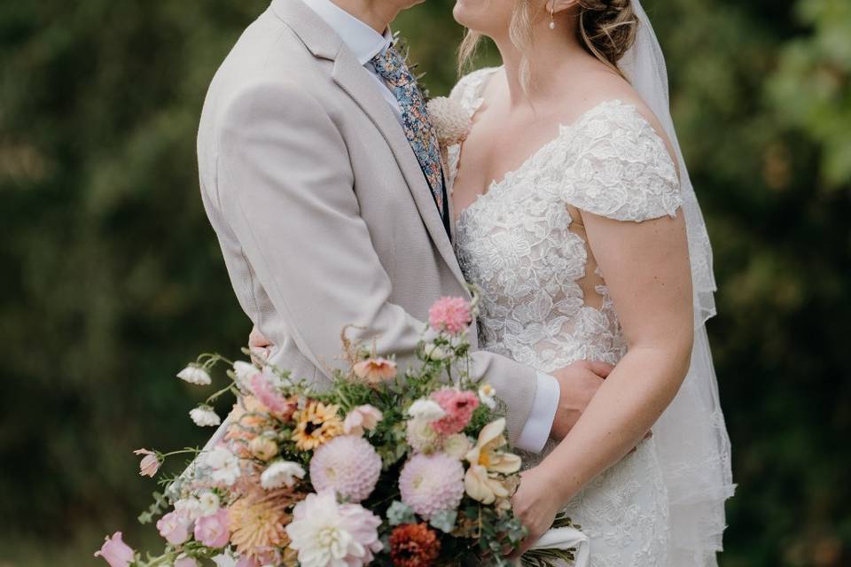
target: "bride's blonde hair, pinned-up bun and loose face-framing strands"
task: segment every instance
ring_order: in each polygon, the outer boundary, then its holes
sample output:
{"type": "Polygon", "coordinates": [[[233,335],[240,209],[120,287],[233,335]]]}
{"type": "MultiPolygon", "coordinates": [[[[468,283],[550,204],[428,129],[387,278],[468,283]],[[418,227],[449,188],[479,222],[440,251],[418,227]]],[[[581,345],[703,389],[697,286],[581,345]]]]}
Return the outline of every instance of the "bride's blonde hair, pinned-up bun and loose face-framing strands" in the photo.
{"type": "MultiPolygon", "coordinates": [[[[611,67],[618,74],[618,61],[636,40],[638,20],[632,11],[630,0],[577,0],[579,12],[576,35],[582,47],[591,55],[611,67]]],[[[516,0],[511,12],[508,36],[520,53],[532,43],[532,0],[516,0]]],[[[472,62],[479,46],[481,34],[467,30],[464,41],[458,48],[458,70],[463,73],[472,62]]],[[[520,81],[530,86],[529,61],[520,63],[520,81]]]]}

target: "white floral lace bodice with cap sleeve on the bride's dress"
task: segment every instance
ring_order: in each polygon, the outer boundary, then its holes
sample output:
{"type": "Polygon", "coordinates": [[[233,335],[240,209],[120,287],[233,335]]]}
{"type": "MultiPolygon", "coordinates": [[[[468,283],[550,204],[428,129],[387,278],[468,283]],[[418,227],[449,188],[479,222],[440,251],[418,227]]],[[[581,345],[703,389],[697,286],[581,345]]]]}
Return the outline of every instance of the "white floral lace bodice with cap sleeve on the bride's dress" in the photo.
{"type": "MultiPolygon", "coordinates": [[[[453,89],[472,116],[493,69],[453,89]]],[[[454,183],[460,146],[449,149],[454,183]]],[[[605,279],[570,207],[617,221],[674,216],[681,205],[665,143],[633,105],[603,102],[561,126],[491,183],[457,221],[456,252],[482,291],[481,345],[545,372],[616,363],[626,343],[605,279]]]]}

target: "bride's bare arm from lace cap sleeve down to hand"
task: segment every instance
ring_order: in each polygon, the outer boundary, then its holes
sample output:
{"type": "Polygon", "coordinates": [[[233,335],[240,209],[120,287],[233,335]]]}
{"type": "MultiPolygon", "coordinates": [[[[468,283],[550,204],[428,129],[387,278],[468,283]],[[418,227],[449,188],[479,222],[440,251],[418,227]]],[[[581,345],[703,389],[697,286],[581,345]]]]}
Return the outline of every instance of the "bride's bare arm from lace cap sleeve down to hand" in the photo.
{"type": "Polygon", "coordinates": [[[628,353],[564,440],[527,471],[513,503],[533,543],[582,486],[623,458],[668,407],[691,360],[691,268],[682,211],[623,222],[582,212],[628,353]]]}

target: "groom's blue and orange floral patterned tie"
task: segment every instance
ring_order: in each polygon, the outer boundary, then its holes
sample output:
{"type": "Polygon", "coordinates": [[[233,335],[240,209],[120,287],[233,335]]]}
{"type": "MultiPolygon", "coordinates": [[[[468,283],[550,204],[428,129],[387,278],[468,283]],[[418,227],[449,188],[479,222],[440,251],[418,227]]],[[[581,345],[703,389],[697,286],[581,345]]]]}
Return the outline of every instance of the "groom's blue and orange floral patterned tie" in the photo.
{"type": "Polygon", "coordinates": [[[371,63],[375,70],[387,82],[399,106],[402,108],[402,124],[405,128],[405,136],[414,154],[417,156],[419,166],[426,175],[428,186],[432,190],[434,202],[445,222],[443,209],[443,170],[441,168],[441,148],[437,142],[437,134],[434,131],[432,121],[428,119],[426,111],[426,100],[417,86],[417,80],[405,65],[405,60],[393,46],[388,47],[384,53],[379,53],[372,58],[371,63]]]}

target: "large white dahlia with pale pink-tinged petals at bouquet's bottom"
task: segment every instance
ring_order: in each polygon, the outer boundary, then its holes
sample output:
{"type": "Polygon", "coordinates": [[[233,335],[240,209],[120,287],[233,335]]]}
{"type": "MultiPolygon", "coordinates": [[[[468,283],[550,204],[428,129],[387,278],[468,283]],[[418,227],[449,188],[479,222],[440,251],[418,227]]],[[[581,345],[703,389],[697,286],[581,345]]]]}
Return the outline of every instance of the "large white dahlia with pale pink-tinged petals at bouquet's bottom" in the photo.
{"type": "Polygon", "coordinates": [[[334,491],[325,490],[295,505],[286,534],[302,567],[362,567],[383,548],[379,525],[381,518],[360,504],[340,504],[334,491]]]}

